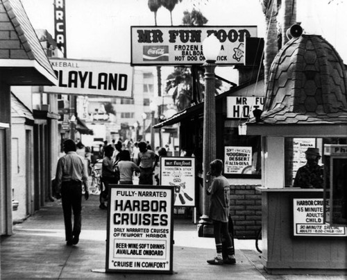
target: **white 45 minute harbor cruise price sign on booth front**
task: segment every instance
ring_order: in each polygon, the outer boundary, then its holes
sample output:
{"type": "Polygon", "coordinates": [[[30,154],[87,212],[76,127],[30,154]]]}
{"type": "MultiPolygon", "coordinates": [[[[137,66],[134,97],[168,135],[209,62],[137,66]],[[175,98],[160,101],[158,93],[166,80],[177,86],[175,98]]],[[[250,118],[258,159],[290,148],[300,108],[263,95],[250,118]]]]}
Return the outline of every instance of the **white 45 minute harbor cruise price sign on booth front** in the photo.
{"type": "Polygon", "coordinates": [[[323,222],[323,199],[293,199],[293,212],[294,236],[347,236],[346,227],[323,222]]]}

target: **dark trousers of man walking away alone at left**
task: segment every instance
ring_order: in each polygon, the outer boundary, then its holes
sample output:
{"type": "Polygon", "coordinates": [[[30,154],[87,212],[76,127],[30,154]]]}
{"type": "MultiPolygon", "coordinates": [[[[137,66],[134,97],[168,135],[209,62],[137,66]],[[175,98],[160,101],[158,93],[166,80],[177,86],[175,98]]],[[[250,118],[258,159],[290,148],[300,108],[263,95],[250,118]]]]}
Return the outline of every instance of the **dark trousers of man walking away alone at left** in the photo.
{"type": "Polygon", "coordinates": [[[62,182],[62,211],[65,222],[65,239],[71,241],[81,233],[82,183],[76,181],[62,182]],[[74,229],[71,224],[71,211],[74,212],[74,229]]]}

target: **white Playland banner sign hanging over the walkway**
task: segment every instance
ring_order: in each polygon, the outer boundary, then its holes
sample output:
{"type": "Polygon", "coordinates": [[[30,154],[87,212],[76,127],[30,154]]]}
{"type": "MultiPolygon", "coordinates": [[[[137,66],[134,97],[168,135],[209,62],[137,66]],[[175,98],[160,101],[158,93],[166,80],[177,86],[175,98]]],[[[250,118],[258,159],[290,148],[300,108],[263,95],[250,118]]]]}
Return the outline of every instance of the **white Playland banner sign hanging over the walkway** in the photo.
{"type": "Polygon", "coordinates": [[[133,97],[133,67],[128,63],[95,60],[50,59],[57,86],[44,92],[102,97],[133,97]]]}

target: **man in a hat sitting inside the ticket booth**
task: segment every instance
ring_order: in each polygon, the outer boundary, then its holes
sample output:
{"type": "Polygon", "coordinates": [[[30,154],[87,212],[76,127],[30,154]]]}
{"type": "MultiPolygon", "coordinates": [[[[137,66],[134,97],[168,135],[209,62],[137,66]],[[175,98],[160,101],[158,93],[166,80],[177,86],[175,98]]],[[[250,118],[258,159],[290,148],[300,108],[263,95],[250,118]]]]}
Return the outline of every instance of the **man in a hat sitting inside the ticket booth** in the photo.
{"type": "Polygon", "coordinates": [[[308,148],[305,155],[307,163],[296,172],[293,187],[323,188],[323,167],[318,164],[321,158],[319,149],[308,148]]]}

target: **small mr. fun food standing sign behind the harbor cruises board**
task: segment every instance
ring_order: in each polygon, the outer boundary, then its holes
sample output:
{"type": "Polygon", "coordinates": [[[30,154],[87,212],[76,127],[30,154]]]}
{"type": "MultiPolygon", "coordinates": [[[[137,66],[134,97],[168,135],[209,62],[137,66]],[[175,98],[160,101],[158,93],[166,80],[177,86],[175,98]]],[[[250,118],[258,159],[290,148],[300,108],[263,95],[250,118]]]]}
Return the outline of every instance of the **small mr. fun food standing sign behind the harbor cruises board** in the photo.
{"type": "Polygon", "coordinates": [[[174,188],[174,206],[195,206],[195,158],[160,157],[160,182],[174,188]]]}

